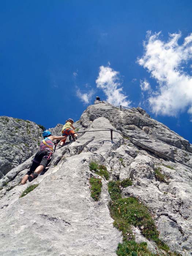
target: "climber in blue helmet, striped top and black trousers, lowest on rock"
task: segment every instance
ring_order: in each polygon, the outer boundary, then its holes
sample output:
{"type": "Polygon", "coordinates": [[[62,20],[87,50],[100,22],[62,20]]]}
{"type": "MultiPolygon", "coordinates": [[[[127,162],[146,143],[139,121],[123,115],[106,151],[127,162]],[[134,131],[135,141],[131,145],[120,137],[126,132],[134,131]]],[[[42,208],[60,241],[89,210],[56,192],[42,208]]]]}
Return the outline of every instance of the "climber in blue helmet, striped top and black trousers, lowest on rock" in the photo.
{"type": "Polygon", "coordinates": [[[27,180],[31,182],[37,178],[37,176],[44,170],[46,166],[48,166],[49,162],[51,161],[53,154],[53,140],[61,140],[65,138],[64,136],[52,136],[51,132],[49,131],[44,131],[42,136],[44,139],[40,142],[40,149],[35,154],[30,170],[22,178],[20,185],[24,185],[27,180]]]}

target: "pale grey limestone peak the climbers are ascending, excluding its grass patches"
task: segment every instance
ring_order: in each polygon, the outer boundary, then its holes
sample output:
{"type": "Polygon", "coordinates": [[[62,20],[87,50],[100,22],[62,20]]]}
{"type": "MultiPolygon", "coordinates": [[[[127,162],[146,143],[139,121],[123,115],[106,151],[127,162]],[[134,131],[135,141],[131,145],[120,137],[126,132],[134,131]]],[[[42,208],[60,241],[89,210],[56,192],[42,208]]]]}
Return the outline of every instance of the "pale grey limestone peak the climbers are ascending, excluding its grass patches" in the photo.
{"type": "MultiPolygon", "coordinates": [[[[109,214],[108,181],[89,169],[94,161],[106,166],[110,180],[131,178],[133,185],[122,188],[123,197],[137,197],[148,207],[159,237],[171,251],[192,256],[191,144],[141,108],[120,111],[106,102],[89,106],[77,125],[78,140],[56,149],[48,171],[31,182],[38,187],[25,197],[19,198],[29,182],[17,184],[32,157],[1,179],[1,255],[116,255],[122,236],[109,214]],[[102,180],[98,202],[90,197],[93,176],[102,180]]],[[[60,135],[61,126],[52,132],[60,135]]],[[[154,242],[144,238],[138,227],[133,233],[136,241],[147,242],[155,253],[154,242]]]]}

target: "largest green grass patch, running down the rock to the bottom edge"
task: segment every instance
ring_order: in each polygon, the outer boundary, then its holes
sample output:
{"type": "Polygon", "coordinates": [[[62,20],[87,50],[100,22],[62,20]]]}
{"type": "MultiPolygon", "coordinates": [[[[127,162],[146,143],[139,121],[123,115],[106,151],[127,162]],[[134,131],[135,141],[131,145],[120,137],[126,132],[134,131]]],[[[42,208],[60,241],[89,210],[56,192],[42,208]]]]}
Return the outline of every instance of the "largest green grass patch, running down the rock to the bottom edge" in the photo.
{"type": "MultiPolygon", "coordinates": [[[[120,186],[132,185],[131,180],[110,181],[108,191],[112,201],[109,203],[110,215],[114,219],[113,225],[122,231],[123,243],[118,245],[118,256],[129,256],[138,253],[138,256],[153,256],[148,251],[146,243],[138,244],[134,241],[131,226],[138,227],[149,240],[153,240],[159,249],[167,253],[169,247],[159,239],[159,232],[151,218],[148,208],[135,197],[122,198],[120,186]]],[[[173,254],[170,254],[173,255],[173,254]]]]}

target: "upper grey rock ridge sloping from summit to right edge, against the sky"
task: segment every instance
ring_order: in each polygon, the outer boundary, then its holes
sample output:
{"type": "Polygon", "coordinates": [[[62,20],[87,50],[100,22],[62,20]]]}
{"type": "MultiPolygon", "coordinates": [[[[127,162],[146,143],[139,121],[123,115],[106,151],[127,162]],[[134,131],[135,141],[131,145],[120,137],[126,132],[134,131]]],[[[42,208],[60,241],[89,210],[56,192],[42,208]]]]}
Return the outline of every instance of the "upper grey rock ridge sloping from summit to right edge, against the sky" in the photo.
{"type": "MultiPolygon", "coordinates": [[[[164,124],[152,118],[149,118],[147,115],[143,115],[144,113],[146,113],[143,109],[137,109],[139,110],[138,113],[131,112],[128,109],[120,111],[120,109],[114,108],[113,105],[109,106],[109,104],[105,104],[104,102],[89,106],[87,110],[84,111],[82,115],[82,120],[84,122],[89,121],[90,114],[94,113],[94,118],[104,116],[108,118],[117,129],[126,129],[127,126],[130,125],[136,126],[140,129],[140,132],[138,129],[136,129],[135,138],[140,134],[140,136],[146,136],[146,138],[159,140],[165,142],[166,144],[169,144],[170,146],[192,152],[192,145],[189,144],[188,140],[185,140],[184,138],[182,138],[182,136],[178,135],[174,131],[171,131],[164,124]],[[146,133],[146,135],[144,135],[144,133],[146,133]]],[[[93,121],[93,118],[91,121],[93,121]]],[[[129,132],[131,136],[134,135],[133,131],[129,130],[129,132]]]]}

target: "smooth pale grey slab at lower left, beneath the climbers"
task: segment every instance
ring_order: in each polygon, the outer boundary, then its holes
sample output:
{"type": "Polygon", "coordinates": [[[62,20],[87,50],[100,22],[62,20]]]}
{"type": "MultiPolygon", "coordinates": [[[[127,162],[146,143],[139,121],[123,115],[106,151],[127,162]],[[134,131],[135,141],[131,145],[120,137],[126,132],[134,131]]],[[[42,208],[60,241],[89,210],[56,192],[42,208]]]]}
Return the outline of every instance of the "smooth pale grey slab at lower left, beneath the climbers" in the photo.
{"type": "Polygon", "coordinates": [[[112,225],[107,202],[91,199],[82,175],[86,170],[88,162],[80,155],[69,157],[34,191],[1,209],[2,255],[116,255],[121,234],[112,225]]]}

